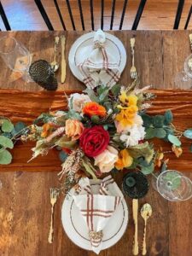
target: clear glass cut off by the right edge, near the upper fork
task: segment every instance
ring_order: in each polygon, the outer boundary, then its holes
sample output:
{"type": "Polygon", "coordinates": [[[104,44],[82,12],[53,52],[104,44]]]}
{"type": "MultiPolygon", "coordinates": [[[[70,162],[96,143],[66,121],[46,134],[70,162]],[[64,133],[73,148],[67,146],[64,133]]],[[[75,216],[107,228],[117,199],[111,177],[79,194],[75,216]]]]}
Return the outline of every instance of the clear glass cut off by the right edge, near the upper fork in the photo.
{"type": "Polygon", "coordinates": [[[177,73],[174,83],[177,89],[192,89],[192,55],[189,55],[184,61],[184,70],[177,73]]]}

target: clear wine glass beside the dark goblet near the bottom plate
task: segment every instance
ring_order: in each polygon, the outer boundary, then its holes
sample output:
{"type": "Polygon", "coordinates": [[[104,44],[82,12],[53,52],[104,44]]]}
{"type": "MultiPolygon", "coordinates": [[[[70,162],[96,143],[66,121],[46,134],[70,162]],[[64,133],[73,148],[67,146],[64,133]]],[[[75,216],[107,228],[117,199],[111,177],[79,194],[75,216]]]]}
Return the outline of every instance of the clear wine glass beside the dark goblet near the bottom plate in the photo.
{"type": "Polygon", "coordinates": [[[154,188],[169,201],[186,201],[192,197],[192,182],[183,173],[174,170],[161,172],[154,188]]]}

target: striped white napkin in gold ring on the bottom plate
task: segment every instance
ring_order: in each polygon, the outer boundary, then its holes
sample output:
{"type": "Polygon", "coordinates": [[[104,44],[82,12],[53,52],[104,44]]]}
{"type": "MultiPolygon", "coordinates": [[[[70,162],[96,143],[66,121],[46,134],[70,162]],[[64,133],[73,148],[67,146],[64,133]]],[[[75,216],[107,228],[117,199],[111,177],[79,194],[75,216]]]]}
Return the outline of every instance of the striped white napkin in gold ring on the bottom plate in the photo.
{"type": "Polygon", "coordinates": [[[102,230],[123,199],[111,176],[103,178],[99,185],[96,194],[93,194],[89,178],[84,177],[79,181],[79,190],[76,191],[78,195],[73,195],[88,226],[92,250],[97,254],[102,250],[102,230]]]}

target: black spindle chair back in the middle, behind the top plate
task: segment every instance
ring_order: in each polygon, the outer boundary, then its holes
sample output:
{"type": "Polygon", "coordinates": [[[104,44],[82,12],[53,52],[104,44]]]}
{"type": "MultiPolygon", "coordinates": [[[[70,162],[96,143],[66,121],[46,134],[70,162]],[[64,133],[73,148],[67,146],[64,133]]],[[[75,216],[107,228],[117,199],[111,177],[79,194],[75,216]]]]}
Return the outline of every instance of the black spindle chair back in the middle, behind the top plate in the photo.
{"type": "MultiPolygon", "coordinates": [[[[42,17],[44,18],[44,21],[45,21],[46,25],[48,26],[48,29],[50,31],[53,31],[54,27],[52,26],[52,24],[49,20],[49,16],[47,15],[47,13],[44,9],[43,3],[41,2],[41,0],[34,0],[34,1],[37,4],[38,9],[39,9],[42,17]]],[[[137,15],[136,15],[135,20],[134,20],[133,25],[132,25],[132,30],[137,30],[137,26],[139,24],[139,20],[141,19],[142,14],[143,14],[143,9],[144,9],[144,6],[145,6],[146,2],[147,2],[147,0],[141,0],[140,1],[138,9],[137,9],[137,15]]],[[[65,22],[63,20],[62,15],[61,15],[61,10],[60,10],[60,7],[57,3],[57,0],[54,0],[54,3],[55,3],[55,9],[57,11],[57,14],[59,15],[59,18],[61,20],[61,25],[62,25],[64,30],[67,30],[67,27],[65,25],[65,22]]],[[[76,30],[70,0],[66,0],[66,3],[67,3],[68,14],[70,16],[70,20],[71,20],[71,23],[72,23],[72,26],[73,26],[73,30],[76,30]]],[[[79,15],[80,15],[82,29],[84,30],[85,29],[84,28],[84,13],[83,13],[83,9],[82,9],[82,1],[77,0],[77,3],[78,3],[78,6],[79,6],[79,15]]],[[[123,27],[127,3],[128,3],[128,0],[125,0],[124,4],[123,4],[121,17],[120,17],[119,30],[121,30],[122,27],[123,27]]],[[[104,26],[104,4],[105,4],[105,1],[101,0],[101,28],[102,29],[103,29],[103,26],[104,26]]],[[[113,0],[112,7],[111,7],[111,20],[110,20],[110,27],[109,27],[110,30],[113,30],[115,4],[116,4],[116,0],[113,0]]],[[[90,0],[90,20],[91,20],[91,29],[95,30],[95,26],[94,26],[95,25],[94,24],[94,1],[93,0],[90,0]]]]}

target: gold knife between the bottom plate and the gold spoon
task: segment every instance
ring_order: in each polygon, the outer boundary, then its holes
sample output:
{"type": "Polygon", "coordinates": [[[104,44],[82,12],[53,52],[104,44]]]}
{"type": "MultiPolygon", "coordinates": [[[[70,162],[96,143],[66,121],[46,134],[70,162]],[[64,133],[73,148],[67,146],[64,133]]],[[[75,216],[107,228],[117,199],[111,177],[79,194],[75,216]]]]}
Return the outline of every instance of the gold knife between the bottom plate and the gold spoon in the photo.
{"type": "Polygon", "coordinates": [[[132,200],[132,215],[135,224],[135,235],[133,241],[132,253],[133,255],[138,255],[138,226],[137,226],[137,217],[138,217],[138,200],[132,200]]]}

